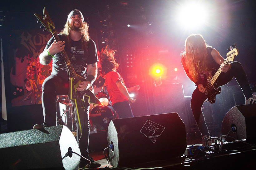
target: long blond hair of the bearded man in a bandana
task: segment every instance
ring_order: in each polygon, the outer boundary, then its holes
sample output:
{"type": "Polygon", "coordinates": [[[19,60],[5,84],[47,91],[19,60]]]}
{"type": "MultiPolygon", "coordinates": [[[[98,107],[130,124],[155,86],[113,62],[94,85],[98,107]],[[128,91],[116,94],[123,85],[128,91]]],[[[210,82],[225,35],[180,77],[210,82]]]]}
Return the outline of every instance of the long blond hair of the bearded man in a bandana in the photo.
{"type": "MultiPolygon", "coordinates": [[[[66,24],[63,28],[63,30],[60,32],[61,35],[66,35],[67,36],[67,44],[70,46],[70,38],[69,38],[69,32],[72,29],[72,26],[69,24],[68,21],[66,21],[66,24]]],[[[82,44],[83,44],[83,49],[85,49],[87,51],[87,43],[89,42],[89,27],[88,24],[86,22],[82,23],[82,26],[79,28],[81,34],[82,34],[82,44]],[[85,42],[85,43],[84,43],[85,42]]]]}

